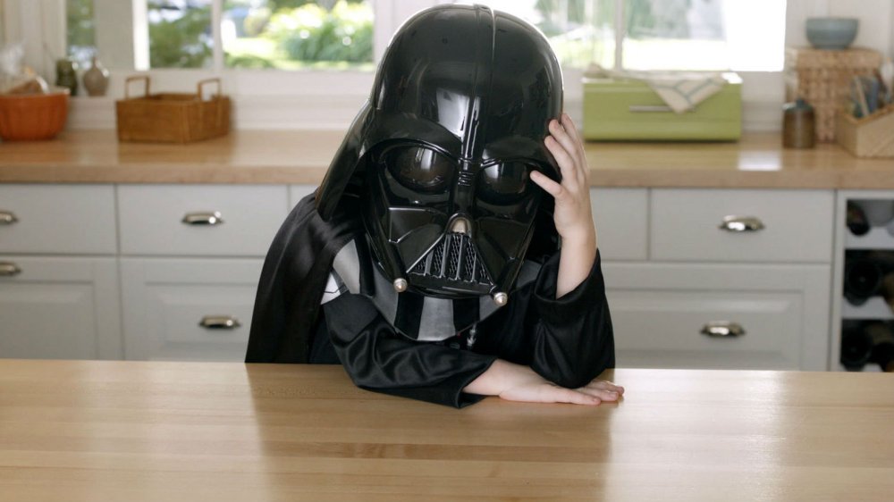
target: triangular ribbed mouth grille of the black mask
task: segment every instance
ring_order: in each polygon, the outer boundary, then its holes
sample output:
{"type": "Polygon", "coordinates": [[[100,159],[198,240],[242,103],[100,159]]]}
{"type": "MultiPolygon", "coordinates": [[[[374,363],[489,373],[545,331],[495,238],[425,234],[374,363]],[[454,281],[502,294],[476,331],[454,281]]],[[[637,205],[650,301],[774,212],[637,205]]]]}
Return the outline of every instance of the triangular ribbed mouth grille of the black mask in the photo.
{"type": "Polygon", "coordinates": [[[468,235],[449,232],[409,271],[429,279],[491,284],[468,235]]]}

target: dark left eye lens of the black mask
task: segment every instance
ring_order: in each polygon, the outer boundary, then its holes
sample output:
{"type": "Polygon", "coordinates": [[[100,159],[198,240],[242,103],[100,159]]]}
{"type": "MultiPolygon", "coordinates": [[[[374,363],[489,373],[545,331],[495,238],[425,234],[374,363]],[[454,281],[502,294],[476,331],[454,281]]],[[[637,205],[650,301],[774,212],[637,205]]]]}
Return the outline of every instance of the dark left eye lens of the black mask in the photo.
{"type": "Polygon", "coordinates": [[[392,148],[382,161],[402,185],[426,194],[446,191],[456,171],[450,157],[421,146],[392,148]]]}

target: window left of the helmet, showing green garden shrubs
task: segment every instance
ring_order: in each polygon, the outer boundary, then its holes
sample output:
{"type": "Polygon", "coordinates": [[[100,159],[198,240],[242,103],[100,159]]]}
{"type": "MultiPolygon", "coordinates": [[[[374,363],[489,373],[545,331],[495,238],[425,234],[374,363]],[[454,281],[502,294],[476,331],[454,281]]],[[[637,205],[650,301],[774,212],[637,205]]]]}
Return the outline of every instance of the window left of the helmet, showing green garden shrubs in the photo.
{"type": "MultiPolygon", "coordinates": [[[[68,54],[104,53],[95,4],[110,0],[66,1],[68,54]]],[[[137,0],[130,17],[137,70],[373,68],[370,0],[137,0]]]]}

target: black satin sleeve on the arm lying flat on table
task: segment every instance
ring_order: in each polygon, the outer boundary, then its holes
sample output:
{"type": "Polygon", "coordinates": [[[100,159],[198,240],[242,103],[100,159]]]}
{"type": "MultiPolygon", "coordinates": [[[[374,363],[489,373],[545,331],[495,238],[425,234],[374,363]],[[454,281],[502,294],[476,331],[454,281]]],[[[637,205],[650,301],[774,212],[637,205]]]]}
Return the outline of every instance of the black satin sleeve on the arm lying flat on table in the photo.
{"type": "Polygon", "coordinates": [[[462,389],[495,356],[406,339],[360,295],[343,294],[323,311],[335,353],[358,387],[456,407],[483,398],[462,389]]]}

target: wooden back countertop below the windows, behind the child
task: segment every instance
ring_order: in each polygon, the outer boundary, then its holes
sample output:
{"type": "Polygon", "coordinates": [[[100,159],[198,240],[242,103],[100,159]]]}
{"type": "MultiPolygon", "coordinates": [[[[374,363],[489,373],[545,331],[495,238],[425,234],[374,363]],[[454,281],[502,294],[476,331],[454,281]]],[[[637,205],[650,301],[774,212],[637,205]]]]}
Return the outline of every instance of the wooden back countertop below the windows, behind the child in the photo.
{"type": "MultiPolygon", "coordinates": [[[[114,130],[0,143],[6,183],[316,184],[342,131],[233,131],[190,145],[119,143],[114,130]]],[[[859,159],[836,145],[787,150],[779,134],[738,143],[587,143],[599,187],[894,188],[894,159],[859,159]]]]}

